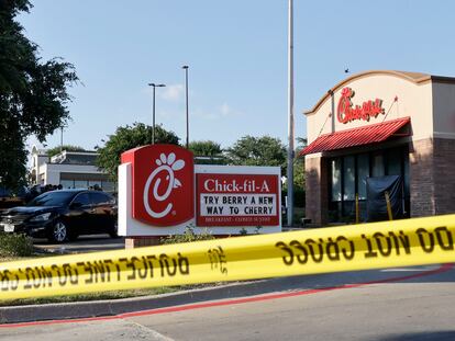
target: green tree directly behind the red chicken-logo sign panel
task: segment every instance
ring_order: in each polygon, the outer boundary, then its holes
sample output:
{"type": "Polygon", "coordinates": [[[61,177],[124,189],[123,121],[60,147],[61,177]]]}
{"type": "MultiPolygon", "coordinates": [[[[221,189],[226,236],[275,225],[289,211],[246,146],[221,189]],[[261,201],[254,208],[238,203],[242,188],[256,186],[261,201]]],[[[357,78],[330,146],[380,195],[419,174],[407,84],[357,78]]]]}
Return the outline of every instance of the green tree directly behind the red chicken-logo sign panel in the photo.
{"type": "MultiPolygon", "coordinates": [[[[155,144],[178,145],[179,138],[174,132],[167,132],[162,126],[155,126],[155,144]]],[[[116,181],[116,169],[120,164],[122,152],[152,144],[152,127],[143,123],[134,123],[118,127],[113,135],[109,136],[104,147],[98,148],[97,164],[103,169],[112,180],[116,181]]]]}

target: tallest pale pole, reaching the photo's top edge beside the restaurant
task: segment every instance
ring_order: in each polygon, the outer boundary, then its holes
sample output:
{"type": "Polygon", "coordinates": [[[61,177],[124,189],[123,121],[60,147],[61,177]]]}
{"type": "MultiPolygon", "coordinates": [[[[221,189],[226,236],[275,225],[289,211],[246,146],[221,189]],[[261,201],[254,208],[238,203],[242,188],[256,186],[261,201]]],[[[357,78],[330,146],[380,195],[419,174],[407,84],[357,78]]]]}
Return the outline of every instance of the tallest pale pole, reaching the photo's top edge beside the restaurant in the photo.
{"type": "Polygon", "coordinates": [[[293,0],[288,0],[288,226],[293,218],[293,0]]]}

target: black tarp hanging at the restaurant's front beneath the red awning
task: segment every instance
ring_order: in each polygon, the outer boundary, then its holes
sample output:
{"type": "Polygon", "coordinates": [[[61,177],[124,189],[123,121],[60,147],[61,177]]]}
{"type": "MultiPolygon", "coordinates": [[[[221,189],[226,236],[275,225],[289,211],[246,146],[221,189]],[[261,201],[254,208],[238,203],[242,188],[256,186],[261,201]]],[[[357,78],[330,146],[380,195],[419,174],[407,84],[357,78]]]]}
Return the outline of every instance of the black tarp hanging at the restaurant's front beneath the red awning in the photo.
{"type": "Polygon", "coordinates": [[[403,181],[400,175],[366,179],[367,221],[388,220],[386,192],[389,193],[393,219],[403,217],[403,181]]]}

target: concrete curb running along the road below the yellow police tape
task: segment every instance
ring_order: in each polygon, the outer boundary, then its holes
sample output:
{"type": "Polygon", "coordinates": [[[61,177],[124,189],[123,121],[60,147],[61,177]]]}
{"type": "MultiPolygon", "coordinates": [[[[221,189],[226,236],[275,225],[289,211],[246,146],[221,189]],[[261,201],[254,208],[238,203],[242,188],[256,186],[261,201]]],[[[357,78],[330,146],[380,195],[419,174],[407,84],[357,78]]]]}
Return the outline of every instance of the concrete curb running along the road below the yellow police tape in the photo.
{"type": "MultiPolygon", "coordinates": [[[[434,273],[434,271],[435,270],[432,270],[428,274],[430,275],[434,273]]],[[[399,276],[392,277],[391,280],[409,281],[407,277],[408,276],[399,276]]],[[[234,282],[224,285],[181,291],[156,296],[0,307],[0,323],[109,317],[126,312],[184,306],[209,300],[232,299],[295,291],[318,291],[325,289],[328,287],[343,287],[346,283],[373,284],[376,281],[390,281],[390,275],[388,275],[388,272],[378,270],[344,272],[343,275],[340,275],[340,273],[322,273],[249,282],[234,282]]],[[[419,282],[419,280],[417,281],[419,282]]]]}

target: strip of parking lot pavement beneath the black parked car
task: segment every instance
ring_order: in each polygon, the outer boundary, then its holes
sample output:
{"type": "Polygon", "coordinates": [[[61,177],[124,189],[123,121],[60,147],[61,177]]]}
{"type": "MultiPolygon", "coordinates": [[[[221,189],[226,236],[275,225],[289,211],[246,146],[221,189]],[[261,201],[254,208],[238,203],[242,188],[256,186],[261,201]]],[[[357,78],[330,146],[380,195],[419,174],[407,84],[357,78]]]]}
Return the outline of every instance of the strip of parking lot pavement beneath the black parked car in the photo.
{"type": "Polygon", "coordinates": [[[47,239],[34,239],[34,246],[43,251],[59,254],[110,251],[124,249],[124,238],[110,238],[109,235],[80,236],[75,241],[49,243],[47,239]]]}

